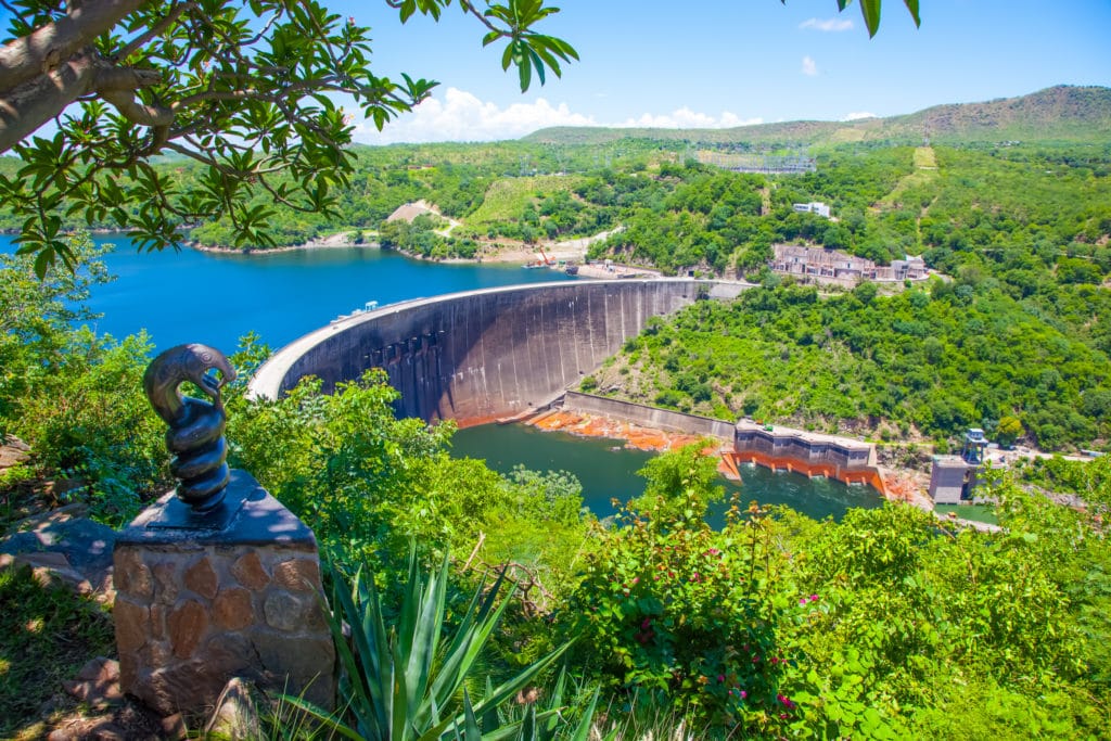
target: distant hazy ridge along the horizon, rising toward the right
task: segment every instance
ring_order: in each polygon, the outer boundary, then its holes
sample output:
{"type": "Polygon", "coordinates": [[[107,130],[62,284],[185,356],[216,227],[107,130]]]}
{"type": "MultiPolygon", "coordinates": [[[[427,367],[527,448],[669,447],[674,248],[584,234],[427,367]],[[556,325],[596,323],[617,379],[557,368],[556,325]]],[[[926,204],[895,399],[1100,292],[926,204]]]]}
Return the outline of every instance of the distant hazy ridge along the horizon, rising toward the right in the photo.
{"type": "Polygon", "coordinates": [[[1019,98],[934,106],[907,116],[855,121],[789,121],[732,129],[552,127],[523,138],[540,143],[605,143],[625,138],[703,143],[823,144],[852,141],[1111,142],[1111,88],[1057,86],[1019,98]]]}

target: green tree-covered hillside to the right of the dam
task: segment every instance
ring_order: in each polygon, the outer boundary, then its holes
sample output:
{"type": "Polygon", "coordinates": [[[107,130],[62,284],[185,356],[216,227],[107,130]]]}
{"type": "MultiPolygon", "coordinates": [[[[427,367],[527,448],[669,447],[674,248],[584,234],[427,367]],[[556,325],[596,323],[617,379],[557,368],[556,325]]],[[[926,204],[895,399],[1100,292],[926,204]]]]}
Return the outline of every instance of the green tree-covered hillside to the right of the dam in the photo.
{"type": "Polygon", "coordinates": [[[1012,417],[1045,450],[1107,445],[1111,147],[842,144],[815,159],[791,176],[670,166],[637,192],[624,229],[591,257],[735,270],[769,292],[660,326],[591,388],[720,419],[938,441],[1012,417]],[[811,201],[834,219],[792,208],[811,201]],[[767,267],[781,243],[880,263],[920,254],[948,278],[890,298],[872,284],[779,294],[793,280],[767,267]]]}

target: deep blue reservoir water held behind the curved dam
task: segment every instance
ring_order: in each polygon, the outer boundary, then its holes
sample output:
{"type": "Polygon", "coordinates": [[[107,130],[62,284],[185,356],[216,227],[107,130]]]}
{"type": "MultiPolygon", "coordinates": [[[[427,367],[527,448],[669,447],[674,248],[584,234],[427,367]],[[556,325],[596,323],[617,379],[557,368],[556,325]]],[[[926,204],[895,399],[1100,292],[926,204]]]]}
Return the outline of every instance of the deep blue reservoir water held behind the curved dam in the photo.
{"type": "MultiPolygon", "coordinates": [[[[368,301],[573,280],[557,270],[444,264],[377,248],[139,253],[124,236],[98,234],[93,241],[118,246],[106,263],[119,278],[94,289],[88,302],[103,314],[99,332],[123,338],[146,329],[157,348],[201,342],[228,354],[248,332],[278,349],[368,301]]],[[[0,236],[0,244],[12,249],[10,237],[0,236]]]]}

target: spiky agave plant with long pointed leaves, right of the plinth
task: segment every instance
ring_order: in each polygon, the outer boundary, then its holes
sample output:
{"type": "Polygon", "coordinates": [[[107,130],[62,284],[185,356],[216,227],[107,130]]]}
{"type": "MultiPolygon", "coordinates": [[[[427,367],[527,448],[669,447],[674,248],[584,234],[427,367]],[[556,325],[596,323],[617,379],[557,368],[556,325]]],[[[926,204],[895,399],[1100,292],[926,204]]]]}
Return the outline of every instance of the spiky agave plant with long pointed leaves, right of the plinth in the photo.
{"type": "MultiPolygon", "coordinates": [[[[464,688],[474,679],[477,661],[509,605],[509,600],[499,603],[497,599],[504,573],[489,590],[479,585],[450,639],[444,635],[447,555],[438,570],[424,575],[416,545],[410,548],[409,581],[393,625],[387,624],[373,579],[364,578],[361,569],[350,583],[339,573],[333,575],[334,612],[329,622],[342,665],[339,693],[346,703],[343,714],[329,714],[303,699],[286,698],[329,731],[372,741],[472,741],[552,738],[564,724],[558,707],[542,712],[530,708],[523,719],[512,723],[503,722],[497,709],[551,667],[570,643],[498,687],[487,679],[478,703],[472,704],[464,688]],[[350,644],[343,635],[344,621],[351,627],[350,644]]],[[[562,677],[558,685],[562,685],[562,677]]],[[[597,695],[590,711],[595,701],[597,695]]],[[[587,712],[569,735],[585,739],[591,715],[587,712]]]]}

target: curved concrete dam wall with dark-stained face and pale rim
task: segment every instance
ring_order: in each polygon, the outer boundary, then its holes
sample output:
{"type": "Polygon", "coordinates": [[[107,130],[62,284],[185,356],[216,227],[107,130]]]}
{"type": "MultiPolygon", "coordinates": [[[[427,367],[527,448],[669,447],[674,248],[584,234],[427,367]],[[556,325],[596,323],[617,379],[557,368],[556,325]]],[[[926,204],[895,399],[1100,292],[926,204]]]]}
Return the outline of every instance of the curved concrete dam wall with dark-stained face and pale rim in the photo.
{"type": "Polygon", "coordinates": [[[550,403],[651,317],[747,283],[689,279],[565,281],[417,299],[333,321],[259,369],[250,394],[278,398],[307,375],[326,391],[383,368],[401,417],[479,424],[550,403]]]}

